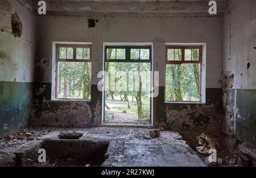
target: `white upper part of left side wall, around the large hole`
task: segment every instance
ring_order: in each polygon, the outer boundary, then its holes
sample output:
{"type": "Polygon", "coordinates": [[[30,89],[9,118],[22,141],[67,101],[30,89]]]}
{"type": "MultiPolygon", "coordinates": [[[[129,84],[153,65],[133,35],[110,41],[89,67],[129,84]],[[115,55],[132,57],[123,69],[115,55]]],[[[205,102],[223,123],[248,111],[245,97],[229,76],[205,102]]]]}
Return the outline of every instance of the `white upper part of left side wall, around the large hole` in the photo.
{"type": "Polygon", "coordinates": [[[36,50],[36,16],[27,1],[0,1],[0,81],[32,82],[36,50]],[[24,2],[24,5],[21,3],[24,2]],[[11,14],[18,14],[23,34],[11,34],[11,14]]]}

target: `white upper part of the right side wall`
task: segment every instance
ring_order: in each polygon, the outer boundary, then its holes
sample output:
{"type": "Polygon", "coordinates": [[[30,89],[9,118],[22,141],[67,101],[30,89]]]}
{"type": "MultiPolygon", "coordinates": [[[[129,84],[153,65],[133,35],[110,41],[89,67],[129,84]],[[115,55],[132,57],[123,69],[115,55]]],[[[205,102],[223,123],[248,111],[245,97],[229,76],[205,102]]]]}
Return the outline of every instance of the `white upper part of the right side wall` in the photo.
{"type": "Polygon", "coordinates": [[[234,73],[235,89],[256,89],[255,29],[256,1],[231,1],[224,18],[224,73],[234,73]]]}

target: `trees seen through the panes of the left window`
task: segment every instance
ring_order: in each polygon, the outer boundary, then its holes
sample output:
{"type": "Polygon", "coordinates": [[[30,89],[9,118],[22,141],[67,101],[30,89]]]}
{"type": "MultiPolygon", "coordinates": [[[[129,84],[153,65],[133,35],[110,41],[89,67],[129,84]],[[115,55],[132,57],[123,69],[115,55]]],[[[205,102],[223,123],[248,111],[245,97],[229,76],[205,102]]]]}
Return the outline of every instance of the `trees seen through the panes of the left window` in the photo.
{"type": "MultiPolygon", "coordinates": [[[[73,59],[73,48],[60,48],[60,59],[73,59]]],[[[90,59],[90,48],[76,48],[76,59],[90,59]]],[[[92,75],[90,62],[58,62],[58,98],[90,98],[92,75]]]]}

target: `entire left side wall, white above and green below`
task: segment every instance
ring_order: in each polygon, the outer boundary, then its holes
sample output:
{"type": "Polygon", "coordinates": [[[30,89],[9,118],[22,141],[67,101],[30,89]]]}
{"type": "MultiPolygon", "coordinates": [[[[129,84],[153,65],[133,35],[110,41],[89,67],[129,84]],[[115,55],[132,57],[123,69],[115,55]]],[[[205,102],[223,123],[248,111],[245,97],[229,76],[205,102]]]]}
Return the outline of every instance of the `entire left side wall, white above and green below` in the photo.
{"type": "Polygon", "coordinates": [[[36,50],[36,17],[30,1],[0,1],[0,136],[30,116],[36,50]]]}

